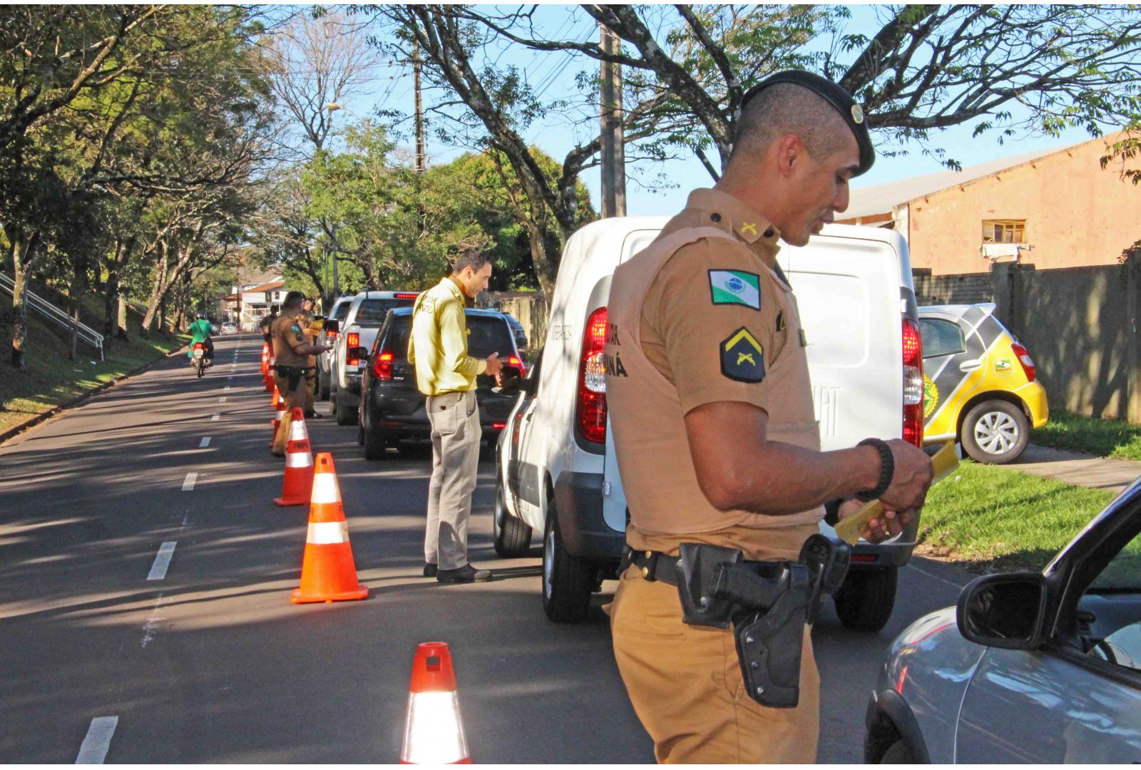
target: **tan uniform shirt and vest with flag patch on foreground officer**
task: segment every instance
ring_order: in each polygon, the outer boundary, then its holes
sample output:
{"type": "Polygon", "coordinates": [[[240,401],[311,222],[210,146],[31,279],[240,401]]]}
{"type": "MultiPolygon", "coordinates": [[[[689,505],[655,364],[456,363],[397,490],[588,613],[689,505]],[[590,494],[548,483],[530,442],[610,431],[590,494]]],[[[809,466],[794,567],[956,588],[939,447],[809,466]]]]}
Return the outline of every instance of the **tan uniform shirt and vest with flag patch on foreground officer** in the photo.
{"type": "Polygon", "coordinates": [[[677,552],[680,542],[742,548],[759,558],[764,530],[804,529],[823,508],[788,516],[720,511],[702,493],[685,415],[713,402],[764,410],[768,438],[819,449],[804,337],[776,264],[779,234],[742,201],[690,194],[647,249],[618,267],[604,364],[626,540],[677,552]]]}

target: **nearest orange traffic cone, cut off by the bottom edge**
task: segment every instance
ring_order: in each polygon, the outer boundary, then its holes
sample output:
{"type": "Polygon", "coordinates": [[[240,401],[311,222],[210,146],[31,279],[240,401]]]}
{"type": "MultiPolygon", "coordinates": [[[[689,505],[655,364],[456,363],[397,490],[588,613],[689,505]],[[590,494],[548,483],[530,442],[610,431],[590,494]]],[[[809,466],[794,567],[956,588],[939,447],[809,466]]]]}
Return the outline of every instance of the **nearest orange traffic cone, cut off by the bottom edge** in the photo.
{"type": "Polygon", "coordinates": [[[400,764],[471,764],[455,696],[452,653],[445,642],[424,642],[416,648],[400,764]]]}

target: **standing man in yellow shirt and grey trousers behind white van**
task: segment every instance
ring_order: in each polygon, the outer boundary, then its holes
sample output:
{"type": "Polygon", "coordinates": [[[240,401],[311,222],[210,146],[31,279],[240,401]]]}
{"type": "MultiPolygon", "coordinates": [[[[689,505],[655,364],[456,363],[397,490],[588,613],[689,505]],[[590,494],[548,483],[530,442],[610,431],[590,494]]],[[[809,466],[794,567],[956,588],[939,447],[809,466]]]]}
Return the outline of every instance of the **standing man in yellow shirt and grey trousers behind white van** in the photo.
{"type": "Polygon", "coordinates": [[[468,564],[468,518],[479,464],[479,407],[476,378],[499,374],[499,352],[486,360],[468,355],[464,306],[487,289],[491,257],[470,249],[452,265],[452,274],[416,298],[408,337],[408,362],[416,387],[427,396],[431,423],[431,481],[428,483],[428,528],[424,577],[440,583],[491,579],[486,569],[468,564]]]}

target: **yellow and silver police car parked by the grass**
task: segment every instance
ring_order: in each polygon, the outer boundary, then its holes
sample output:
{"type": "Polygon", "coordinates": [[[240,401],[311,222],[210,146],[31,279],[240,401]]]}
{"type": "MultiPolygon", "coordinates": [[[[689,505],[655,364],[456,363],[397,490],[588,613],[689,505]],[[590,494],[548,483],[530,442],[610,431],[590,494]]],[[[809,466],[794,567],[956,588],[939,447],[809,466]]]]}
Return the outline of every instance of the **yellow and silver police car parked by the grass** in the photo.
{"type": "Polygon", "coordinates": [[[974,460],[1001,464],[1022,454],[1050,407],[1030,354],[994,311],[992,302],[920,308],[923,443],[955,439],[974,460]]]}

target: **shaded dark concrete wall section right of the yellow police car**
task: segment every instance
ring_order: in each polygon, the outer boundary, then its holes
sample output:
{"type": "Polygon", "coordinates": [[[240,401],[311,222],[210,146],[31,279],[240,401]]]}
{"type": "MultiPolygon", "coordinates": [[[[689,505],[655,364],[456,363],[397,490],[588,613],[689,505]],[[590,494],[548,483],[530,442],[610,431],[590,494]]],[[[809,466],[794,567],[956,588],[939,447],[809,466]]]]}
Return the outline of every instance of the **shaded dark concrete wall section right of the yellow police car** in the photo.
{"type": "Polygon", "coordinates": [[[1134,260],[1054,270],[996,267],[998,318],[1030,351],[1051,408],[1141,422],[1134,260]]]}

